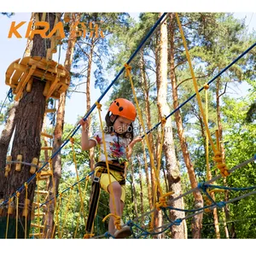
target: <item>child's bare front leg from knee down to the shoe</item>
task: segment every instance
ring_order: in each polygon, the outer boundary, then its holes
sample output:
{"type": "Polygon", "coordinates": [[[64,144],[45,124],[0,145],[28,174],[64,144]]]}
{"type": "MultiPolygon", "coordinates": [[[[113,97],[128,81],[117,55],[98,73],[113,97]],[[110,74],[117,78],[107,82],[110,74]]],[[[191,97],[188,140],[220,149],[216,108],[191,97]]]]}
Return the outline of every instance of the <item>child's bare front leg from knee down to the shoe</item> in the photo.
{"type": "MultiPolygon", "coordinates": [[[[111,185],[108,185],[108,192],[109,192],[109,209],[111,213],[116,213],[117,215],[122,218],[122,213],[124,210],[124,202],[121,201],[121,195],[122,195],[122,188],[118,182],[113,182],[111,185]],[[112,189],[113,189],[113,195],[112,195],[112,189]],[[114,206],[113,206],[113,199],[114,199],[114,205],[115,205],[115,210],[114,211],[114,206]]],[[[114,218],[111,217],[108,223],[108,232],[113,235],[115,231],[115,226],[113,224],[114,218]]]]}

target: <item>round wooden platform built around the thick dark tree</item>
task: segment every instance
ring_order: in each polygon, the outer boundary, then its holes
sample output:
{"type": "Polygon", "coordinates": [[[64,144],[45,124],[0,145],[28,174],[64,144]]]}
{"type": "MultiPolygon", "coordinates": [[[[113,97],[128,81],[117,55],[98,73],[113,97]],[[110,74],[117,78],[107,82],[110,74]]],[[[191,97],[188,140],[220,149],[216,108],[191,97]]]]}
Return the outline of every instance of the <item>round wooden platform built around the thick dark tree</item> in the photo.
{"type": "Polygon", "coordinates": [[[20,99],[23,90],[31,90],[32,78],[46,82],[44,96],[59,99],[70,84],[70,73],[57,62],[43,57],[24,57],[11,63],[5,73],[5,84],[13,89],[15,101],[20,99]]]}

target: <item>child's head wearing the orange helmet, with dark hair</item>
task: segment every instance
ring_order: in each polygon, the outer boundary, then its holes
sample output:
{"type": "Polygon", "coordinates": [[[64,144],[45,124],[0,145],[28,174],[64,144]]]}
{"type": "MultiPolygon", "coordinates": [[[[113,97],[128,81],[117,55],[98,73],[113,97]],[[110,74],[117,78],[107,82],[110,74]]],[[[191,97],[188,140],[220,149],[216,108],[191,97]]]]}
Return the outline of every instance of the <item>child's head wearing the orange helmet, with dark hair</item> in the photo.
{"type": "Polygon", "coordinates": [[[134,105],[123,98],[113,101],[108,108],[106,115],[107,131],[115,131],[120,136],[133,139],[132,122],[136,119],[136,108],[134,105]]]}

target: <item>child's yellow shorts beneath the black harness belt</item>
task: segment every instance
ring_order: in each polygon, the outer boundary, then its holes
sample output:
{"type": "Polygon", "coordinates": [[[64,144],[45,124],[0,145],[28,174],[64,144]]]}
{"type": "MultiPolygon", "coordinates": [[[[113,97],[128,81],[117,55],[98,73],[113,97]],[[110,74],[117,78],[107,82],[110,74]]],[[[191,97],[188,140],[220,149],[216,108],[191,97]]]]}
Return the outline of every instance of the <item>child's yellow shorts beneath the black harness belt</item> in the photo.
{"type": "MultiPolygon", "coordinates": [[[[96,167],[95,172],[97,172],[100,168],[102,167],[96,167]]],[[[111,183],[113,182],[119,182],[121,180],[124,179],[123,175],[121,172],[116,172],[116,171],[112,171],[109,170],[110,172],[110,181],[111,183]]],[[[100,184],[101,184],[101,189],[103,189],[104,191],[106,191],[108,194],[111,193],[111,188],[109,187],[109,191],[108,191],[108,185],[109,183],[109,177],[108,177],[108,173],[102,173],[101,179],[100,179],[100,184]]],[[[125,203],[125,184],[121,185],[121,189],[122,189],[122,194],[121,194],[121,201],[123,201],[125,203]]]]}

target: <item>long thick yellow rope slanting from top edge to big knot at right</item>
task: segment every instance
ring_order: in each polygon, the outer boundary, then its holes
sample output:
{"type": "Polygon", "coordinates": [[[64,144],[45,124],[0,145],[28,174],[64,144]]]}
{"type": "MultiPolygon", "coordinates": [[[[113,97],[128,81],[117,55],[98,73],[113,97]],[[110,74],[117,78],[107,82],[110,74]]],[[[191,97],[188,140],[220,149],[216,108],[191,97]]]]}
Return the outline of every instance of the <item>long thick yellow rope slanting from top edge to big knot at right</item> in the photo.
{"type": "MultiPolygon", "coordinates": [[[[198,102],[198,105],[199,105],[199,108],[200,108],[200,112],[201,112],[201,115],[202,115],[202,118],[203,118],[203,122],[206,126],[206,130],[207,130],[207,134],[208,134],[208,137],[209,137],[209,141],[210,141],[211,146],[212,146],[212,150],[214,152],[213,160],[218,162],[217,167],[220,170],[221,175],[225,177],[225,176],[228,176],[230,173],[227,172],[228,168],[223,163],[223,160],[220,157],[221,154],[220,154],[220,151],[218,150],[219,148],[215,148],[214,143],[212,141],[211,133],[210,133],[209,127],[207,125],[207,119],[206,119],[206,116],[205,116],[203,108],[202,108],[201,97],[200,97],[198,86],[197,86],[197,83],[196,83],[195,73],[194,73],[194,70],[193,70],[193,67],[192,67],[192,62],[190,60],[189,49],[188,49],[188,46],[187,46],[187,43],[186,43],[186,39],[184,37],[183,28],[181,26],[181,23],[180,23],[180,20],[178,18],[177,13],[175,15],[176,15],[176,18],[177,18],[177,24],[178,24],[179,30],[181,32],[181,36],[183,38],[183,45],[184,45],[184,48],[185,48],[185,51],[186,51],[187,59],[188,59],[188,62],[189,62],[189,69],[190,69],[190,73],[191,73],[191,76],[192,76],[192,79],[193,79],[193,84],[194,84],[194,87],[195,87],[196,99],[197,99],[197,102],[198,102]]],[[[207,85],[208,84],[205,84],[205,86],[204,86],[206,89],[208,89],[207,85]]]]}

